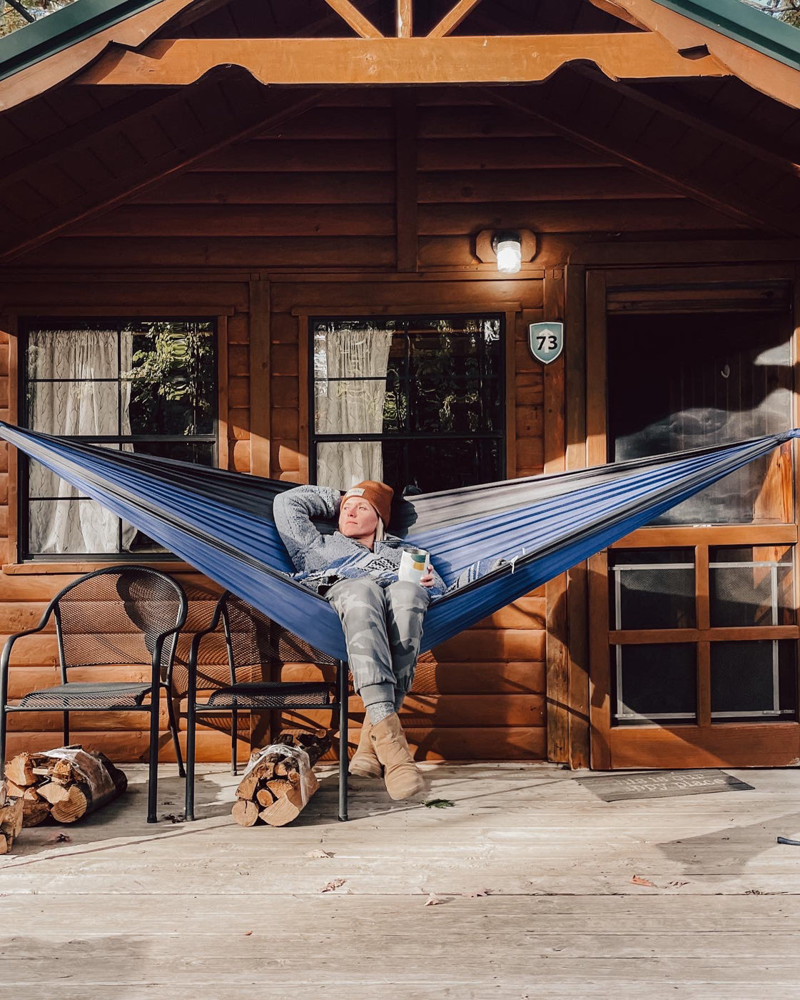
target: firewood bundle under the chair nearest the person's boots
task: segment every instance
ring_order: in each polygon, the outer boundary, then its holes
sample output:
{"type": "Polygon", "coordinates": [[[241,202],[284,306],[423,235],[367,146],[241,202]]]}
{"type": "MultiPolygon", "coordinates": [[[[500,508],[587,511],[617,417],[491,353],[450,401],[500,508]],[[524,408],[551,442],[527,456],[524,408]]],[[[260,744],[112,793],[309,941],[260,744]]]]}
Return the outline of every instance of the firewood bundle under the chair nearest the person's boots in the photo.
{"type": "Polygon", "coordinates": [[[237,823],[254,826],[263,820],[270,826],[286,826],[296,819],[320,787],[312,767],[330,748],[330,737],[287,733],[257,750],[236,790],[232,815],[237,823]]]}

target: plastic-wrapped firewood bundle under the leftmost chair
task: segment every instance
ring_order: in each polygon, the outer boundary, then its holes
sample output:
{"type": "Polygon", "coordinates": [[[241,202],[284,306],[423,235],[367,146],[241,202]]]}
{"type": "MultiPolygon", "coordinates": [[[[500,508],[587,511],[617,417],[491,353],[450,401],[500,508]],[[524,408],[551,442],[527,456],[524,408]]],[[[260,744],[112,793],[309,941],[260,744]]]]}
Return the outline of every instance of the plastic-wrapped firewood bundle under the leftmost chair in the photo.
{"type": "Polygon", "coordinates": [[[23,826],[38,826],[51,816],[74,823],[128,787],[105,754],[80,746],[17,754],[6,764],[6,779],[8,795],[22,802],[23,826]]]}

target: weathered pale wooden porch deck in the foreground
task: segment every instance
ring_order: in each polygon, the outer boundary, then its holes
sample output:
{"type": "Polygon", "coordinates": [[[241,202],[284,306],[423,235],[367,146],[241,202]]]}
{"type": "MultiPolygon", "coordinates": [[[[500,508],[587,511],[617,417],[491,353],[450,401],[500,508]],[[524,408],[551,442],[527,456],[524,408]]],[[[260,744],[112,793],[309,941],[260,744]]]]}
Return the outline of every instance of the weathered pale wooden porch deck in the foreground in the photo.
{"type": "Polygon", "coordinates": [[[349,823],[327,770],[284,829],[234,825],[211,765],[194,824],[148,827],[136,766],[102,813],[24,831],[0,859],[0,995],[800,997],[800,847],[776,843],[800,833],[800,770],[605,803],[551,765],[428,765],[451,808],[356,779],[349,823]]]}

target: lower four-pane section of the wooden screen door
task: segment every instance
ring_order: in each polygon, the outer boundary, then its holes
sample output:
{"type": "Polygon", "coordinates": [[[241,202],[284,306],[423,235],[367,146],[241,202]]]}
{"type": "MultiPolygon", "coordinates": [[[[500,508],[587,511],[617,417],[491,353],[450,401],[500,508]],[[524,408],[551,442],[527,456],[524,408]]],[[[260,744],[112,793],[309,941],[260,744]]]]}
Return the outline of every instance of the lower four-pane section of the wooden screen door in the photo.
{"type": "Polygon", "coordinates": [[[616,725],[797,718],[791,545],[612,549],[616,725]]]}

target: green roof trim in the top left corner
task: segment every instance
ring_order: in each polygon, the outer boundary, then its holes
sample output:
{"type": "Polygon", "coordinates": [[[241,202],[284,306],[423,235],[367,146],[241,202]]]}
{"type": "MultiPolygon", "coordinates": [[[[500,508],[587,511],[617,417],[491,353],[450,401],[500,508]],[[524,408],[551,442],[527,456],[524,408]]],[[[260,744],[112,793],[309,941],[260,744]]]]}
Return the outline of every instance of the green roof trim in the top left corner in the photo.
{"type": "Polygon", "coordinates": [[[161,0],[75,0],[0,38],[0,80],[68,49],[161,0]]]}

